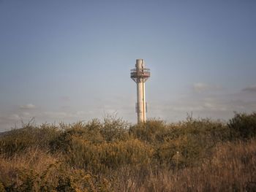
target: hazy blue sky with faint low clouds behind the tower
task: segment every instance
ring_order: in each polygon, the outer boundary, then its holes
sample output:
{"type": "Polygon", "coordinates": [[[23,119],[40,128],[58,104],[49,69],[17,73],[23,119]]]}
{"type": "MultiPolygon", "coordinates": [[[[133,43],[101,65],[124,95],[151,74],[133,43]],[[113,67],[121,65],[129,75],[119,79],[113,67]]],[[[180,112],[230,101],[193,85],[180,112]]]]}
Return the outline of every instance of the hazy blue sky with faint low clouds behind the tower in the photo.
{"type": "Polygon", "coordinates": [[[107,115],[227,121],[256,111],[256,1],[0,0],[0,131],[107,115]]]}

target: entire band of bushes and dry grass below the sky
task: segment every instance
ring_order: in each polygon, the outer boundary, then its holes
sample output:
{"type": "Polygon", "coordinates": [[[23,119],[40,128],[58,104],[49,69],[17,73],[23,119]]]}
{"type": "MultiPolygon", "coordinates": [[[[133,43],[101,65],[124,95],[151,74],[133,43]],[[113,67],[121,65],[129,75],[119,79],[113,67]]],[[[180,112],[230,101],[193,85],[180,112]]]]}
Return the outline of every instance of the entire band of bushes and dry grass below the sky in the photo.
{"type": "Polygon", "coordinates": [[[28,123],[0,136],[0,191],[256,191],[256,113],[227,123],[28,123]]]}

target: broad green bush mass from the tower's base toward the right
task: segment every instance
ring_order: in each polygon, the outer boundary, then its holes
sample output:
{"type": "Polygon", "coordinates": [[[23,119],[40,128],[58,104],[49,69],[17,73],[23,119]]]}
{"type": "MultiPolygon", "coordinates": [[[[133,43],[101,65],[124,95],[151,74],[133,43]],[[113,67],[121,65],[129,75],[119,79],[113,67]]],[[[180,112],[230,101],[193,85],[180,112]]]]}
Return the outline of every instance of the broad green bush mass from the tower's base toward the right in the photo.
{"type": "Polygon", "coordinates": [[[151,161],[171,168],[198,164],[217,143],[230,139],[225,123],[194,118],[171,124],[148,120],[132,126],[129,134],[154,147],[151,161]]]}

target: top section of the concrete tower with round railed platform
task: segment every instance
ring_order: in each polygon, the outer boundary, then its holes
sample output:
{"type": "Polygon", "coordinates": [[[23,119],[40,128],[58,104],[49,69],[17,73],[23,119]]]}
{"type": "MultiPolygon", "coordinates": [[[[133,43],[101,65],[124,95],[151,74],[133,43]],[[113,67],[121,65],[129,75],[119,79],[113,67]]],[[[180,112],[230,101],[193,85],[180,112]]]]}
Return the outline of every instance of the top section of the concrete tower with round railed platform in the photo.
{"type": "Polygon", "coordinates": [[[136,83],[146,82],[148,77],[150,77],[150,69],[145,68],[144,60],[142,58],[136,59],[135,69],[131,69],[131,78],[136,83]]]}

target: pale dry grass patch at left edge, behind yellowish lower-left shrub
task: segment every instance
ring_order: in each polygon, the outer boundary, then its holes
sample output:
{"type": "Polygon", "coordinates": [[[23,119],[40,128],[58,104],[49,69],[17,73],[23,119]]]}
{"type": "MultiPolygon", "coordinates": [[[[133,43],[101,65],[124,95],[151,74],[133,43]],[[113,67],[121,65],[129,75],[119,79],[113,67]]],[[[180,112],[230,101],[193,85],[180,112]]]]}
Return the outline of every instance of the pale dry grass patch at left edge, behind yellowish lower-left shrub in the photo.
{"type": "MultiPolygon", "coordinates": [[[[41,177],[42,180],[53,181],[51,177],[55,177],[56,174],[51,172],[50,168],[56,166],[60,158],[60,155],[50,155],[48,151],[37,148],[29,148],[24,153],[15,154],[12,157],[1,155],[0,181],[4,185],[15,183],[15,186],[22,185],[27,177],[32,177],[34,180],[41,177]],[[43,174],[47,178],[42,178],[43,174]]],[[[37,180],[37,182],[41,182],[41,180],[37,180]]],[[[37,188],[37,186],[35,187],[37,188]]]]}

